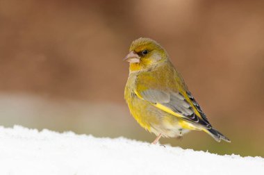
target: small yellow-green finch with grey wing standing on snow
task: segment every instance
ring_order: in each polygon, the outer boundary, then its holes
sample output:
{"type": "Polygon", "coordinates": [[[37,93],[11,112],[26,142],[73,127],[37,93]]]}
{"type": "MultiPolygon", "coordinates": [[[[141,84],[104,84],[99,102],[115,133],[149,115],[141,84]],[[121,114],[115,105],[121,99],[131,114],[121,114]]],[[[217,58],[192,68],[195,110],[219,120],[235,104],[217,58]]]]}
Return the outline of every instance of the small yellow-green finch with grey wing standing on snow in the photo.
{"type": "Polygon", "coordinates": [[[152,144],[160,137],[179,138],[190,130],[205,131],[217,142],[230,142],[208,122],[158,42],[134,40],[124,60],[130,63],[124,97],[140,126],[157,135],[152,144]]]}

